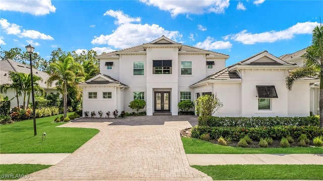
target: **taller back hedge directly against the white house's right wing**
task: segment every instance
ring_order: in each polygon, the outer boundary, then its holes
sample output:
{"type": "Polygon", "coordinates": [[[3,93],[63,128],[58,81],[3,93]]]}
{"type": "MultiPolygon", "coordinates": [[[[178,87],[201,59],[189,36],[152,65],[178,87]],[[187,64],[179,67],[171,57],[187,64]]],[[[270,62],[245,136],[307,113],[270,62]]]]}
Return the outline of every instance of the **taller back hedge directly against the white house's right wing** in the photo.
{"type": "Polygon", "coordinates": [[[198,117],[199,126],[210,127],[272,127],[284,126],[319,126],[319,117],[214,117],[208,116],[206,123],[198,117]]]}

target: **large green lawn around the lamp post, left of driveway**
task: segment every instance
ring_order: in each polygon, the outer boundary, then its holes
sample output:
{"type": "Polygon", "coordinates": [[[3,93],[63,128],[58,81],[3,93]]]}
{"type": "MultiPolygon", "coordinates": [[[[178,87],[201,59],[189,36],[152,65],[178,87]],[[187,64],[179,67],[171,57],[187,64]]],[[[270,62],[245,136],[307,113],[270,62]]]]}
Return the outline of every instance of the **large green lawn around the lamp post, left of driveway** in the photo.
{"type": "Polygon", "coordinates": [[[88,128],[57,128],[65,123],[53,122],[56,117],[36,119],[36,136],[33,120],[0,125],[0,153],[73,153],[99,132],[88,128]],[[45,141],[42,141],[43,132],[46,132],[45,141]]]}

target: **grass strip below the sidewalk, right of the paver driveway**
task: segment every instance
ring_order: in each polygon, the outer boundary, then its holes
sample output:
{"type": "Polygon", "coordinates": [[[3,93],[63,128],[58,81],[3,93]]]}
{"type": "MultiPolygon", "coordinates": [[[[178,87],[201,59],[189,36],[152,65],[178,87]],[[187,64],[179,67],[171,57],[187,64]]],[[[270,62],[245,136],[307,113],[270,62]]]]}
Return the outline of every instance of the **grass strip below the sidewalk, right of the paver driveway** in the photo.
{"type": "Polygon", "coordinates": [[[193,165],[192,167],[211,176],[213,180],[323,179],[323,165],[193,165]]]}

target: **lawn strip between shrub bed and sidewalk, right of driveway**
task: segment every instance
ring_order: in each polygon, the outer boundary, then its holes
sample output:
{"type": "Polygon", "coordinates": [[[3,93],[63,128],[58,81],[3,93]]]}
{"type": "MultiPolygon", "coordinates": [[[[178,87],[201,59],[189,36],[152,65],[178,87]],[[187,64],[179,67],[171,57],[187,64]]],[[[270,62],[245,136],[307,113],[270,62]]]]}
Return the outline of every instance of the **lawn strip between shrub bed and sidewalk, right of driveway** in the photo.
{"type": "Polygon", "coordinates": [[[182,137],[186,154],[322,154],[323,147],[242,148],[213,144],[195,138],[182,137]]]}

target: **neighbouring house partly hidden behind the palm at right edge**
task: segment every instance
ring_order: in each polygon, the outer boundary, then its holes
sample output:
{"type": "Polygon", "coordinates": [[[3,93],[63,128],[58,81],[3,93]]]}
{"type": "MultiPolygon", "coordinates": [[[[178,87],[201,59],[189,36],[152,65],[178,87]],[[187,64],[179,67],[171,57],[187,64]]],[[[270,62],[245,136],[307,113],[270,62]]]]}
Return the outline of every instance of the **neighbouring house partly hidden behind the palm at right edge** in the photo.
{"type": "MultiPolygon", "coordinates": [[[[285,54],[279,57],[280,59],[296,63],[299,66],[304,66],[304,58],[302,55],[306,52],[306,48],[291,54],[285,54]]],[[[310,84],[310,112],[319,115],[319,80],[310,84]]]]}

